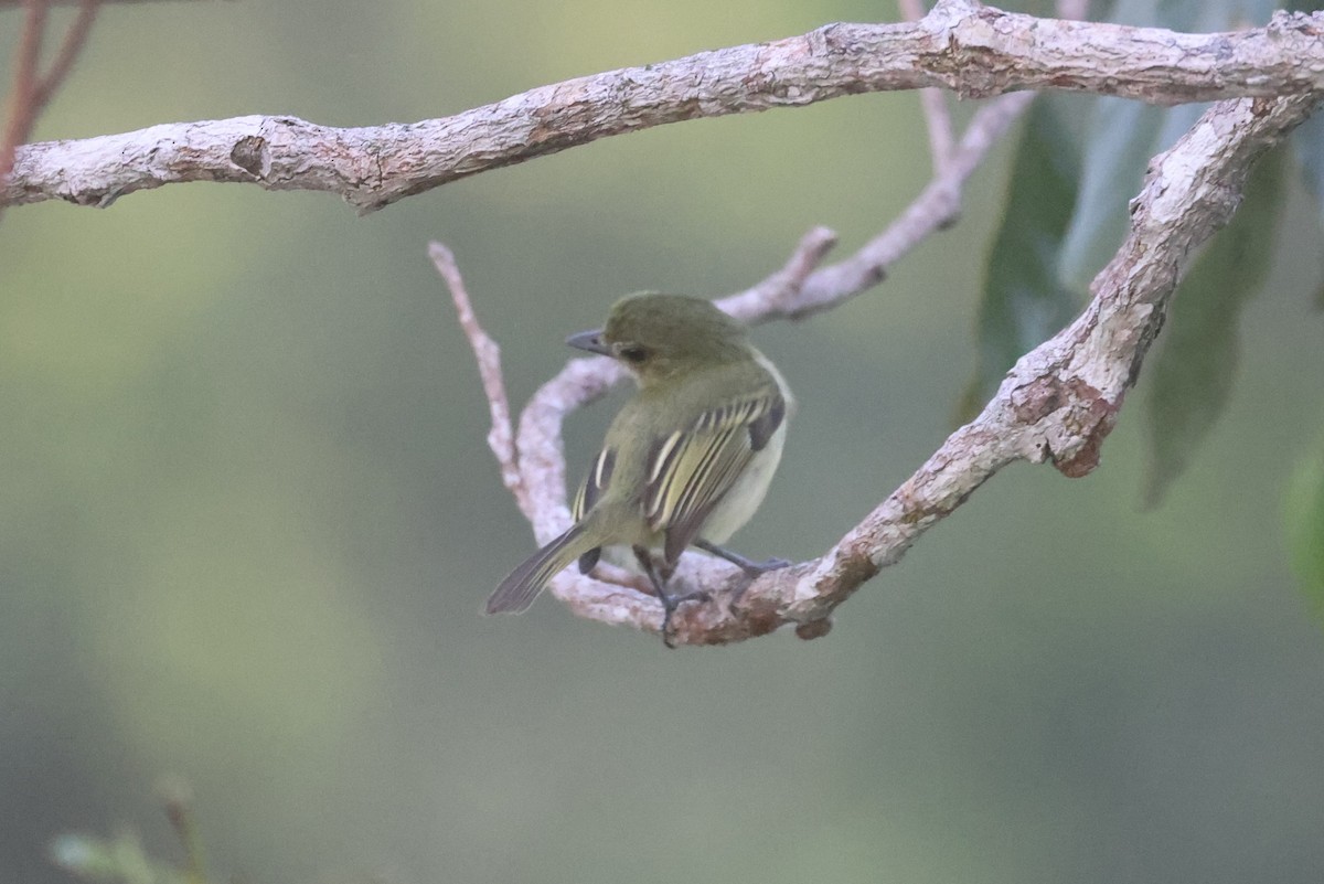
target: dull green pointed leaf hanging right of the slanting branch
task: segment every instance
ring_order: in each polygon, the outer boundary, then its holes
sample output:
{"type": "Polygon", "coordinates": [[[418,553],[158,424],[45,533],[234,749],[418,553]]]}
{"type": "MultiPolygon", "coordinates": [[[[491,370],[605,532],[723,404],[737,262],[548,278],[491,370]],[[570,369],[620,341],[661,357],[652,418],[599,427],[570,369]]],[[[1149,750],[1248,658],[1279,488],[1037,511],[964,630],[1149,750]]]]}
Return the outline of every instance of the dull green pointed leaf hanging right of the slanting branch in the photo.
{"type": "Polygon", "coordinates": [[[1209,241],[1177,290],[1145,397],[1145,507],[1162,500],[1227,405],[1237,371],[1237,323],[1264,283],[1274,254],[1283,157],[1276,150],[1259,160],[1237,214],[1209,241]]]}

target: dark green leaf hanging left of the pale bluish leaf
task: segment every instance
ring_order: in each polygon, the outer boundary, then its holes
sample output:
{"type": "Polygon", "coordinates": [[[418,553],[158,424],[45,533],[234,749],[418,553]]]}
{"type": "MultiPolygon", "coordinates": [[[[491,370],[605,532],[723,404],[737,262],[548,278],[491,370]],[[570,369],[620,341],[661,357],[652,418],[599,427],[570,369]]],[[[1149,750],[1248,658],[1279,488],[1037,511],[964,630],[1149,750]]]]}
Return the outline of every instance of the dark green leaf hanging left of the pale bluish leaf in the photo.
{"type": "Polygon", "coordinates": [[[1061,103],[1039,98],[1016,148],[1002,226],[984,266],[978,364],[961,397],[961,422],[978,413],[1022,353],[1076,311],[1071,292],[1058,283],[1058,249],[1075,202],[1076,163],[1061,103]]]}

